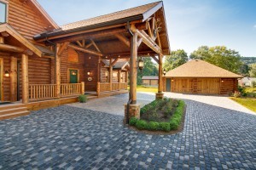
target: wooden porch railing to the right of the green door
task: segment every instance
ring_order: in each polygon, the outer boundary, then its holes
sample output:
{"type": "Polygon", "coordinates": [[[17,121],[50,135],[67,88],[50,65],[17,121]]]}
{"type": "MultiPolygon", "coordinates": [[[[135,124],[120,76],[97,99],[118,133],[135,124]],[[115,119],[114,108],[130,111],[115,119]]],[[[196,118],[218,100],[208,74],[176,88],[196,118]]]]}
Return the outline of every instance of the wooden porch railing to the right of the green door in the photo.
{"type": "Polygon", "coordinates": [[[127,82],[113,82],[112,87],[110,87],[110,83],[97,83],[97,94],[125,89],[127,89],[127,82]]]}

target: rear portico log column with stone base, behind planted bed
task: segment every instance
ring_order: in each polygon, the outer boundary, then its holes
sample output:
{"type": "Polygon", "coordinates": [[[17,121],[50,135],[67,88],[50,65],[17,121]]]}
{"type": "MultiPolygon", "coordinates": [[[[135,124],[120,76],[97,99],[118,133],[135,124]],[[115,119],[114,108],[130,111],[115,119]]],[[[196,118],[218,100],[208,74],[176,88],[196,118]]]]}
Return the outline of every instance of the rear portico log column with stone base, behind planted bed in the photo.
{"type": "Polygon", "coordinates": [[[159,54],[159,81],[158,81],[158,93],[155,95],[155,99],[163,99],[163,61],[162,61],[162,54],[159,54]]]}

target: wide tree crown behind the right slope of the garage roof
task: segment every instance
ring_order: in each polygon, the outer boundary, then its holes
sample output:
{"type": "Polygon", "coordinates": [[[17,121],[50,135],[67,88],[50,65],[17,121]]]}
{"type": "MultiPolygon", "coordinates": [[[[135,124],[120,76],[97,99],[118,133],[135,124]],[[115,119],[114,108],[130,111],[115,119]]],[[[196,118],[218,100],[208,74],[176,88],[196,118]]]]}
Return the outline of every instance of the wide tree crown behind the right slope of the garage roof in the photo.
{"type": "Polygon", "coordinates": [[[201,46],[190,54],[191,59],[202,59],[225,70],[241,73],[241,55],[225,46],[201,46]]]}

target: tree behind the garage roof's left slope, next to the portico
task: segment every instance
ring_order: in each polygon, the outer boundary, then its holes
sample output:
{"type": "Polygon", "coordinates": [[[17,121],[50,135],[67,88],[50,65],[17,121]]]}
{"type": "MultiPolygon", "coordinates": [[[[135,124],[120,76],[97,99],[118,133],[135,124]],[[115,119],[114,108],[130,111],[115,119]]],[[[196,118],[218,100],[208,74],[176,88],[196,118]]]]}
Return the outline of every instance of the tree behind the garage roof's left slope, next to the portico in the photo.
{"type": "Polygon", "coordinates": [[[166,71],[170,71],[179,65],[183,65],[188,60],[188,54],[183,49],[177,49],[176,51],[172,51],[171,55],[166,56],[166,61],[163,66],[166,71]]]}

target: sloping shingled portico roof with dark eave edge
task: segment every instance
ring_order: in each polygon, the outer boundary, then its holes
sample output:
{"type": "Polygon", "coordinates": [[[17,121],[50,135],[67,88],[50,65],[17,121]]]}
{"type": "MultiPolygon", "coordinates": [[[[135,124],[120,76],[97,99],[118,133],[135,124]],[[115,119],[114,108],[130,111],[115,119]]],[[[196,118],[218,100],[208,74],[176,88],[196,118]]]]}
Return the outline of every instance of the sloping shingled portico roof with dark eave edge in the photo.
{"type": "Polygon", "coordinates": [[[60,29],[44,32],[41,35],[35,36],[34,39],[38,40],[44,37],[63,35],[63,34],[75,32],[75,31],[85,31],[85,30],[100,28],[103,26],[113,26],[118,24],[124,24],[128,21],[129,22],[136,21],[136,20],[145,21],[148,19],[148,17],[154,14],[161,7],[163,7],[163,3],[160,1],[156,3],[148,3],[146,5],[142,5],[135,8],[121,10],[119,12],[114,12],[111,14],[97,16],[94,18],[90,18],[88,20],[80,20],[64,26],[60,26],[60,29]]]}

